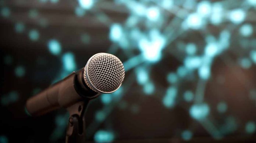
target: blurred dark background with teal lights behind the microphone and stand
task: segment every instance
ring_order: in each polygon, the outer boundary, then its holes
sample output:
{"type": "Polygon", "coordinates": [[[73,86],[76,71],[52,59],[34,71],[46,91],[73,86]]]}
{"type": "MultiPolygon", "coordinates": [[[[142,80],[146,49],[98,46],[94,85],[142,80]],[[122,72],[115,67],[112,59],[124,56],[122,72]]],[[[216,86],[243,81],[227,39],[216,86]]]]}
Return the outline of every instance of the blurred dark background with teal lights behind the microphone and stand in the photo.
{"type": "Polygon", "coordinates": [[[111,53],[120,89],[87,110],[88,141],[255,141],[256,0],[0,0],[0,143],[64,142],[68,113],[26,99],[111,53]]]}

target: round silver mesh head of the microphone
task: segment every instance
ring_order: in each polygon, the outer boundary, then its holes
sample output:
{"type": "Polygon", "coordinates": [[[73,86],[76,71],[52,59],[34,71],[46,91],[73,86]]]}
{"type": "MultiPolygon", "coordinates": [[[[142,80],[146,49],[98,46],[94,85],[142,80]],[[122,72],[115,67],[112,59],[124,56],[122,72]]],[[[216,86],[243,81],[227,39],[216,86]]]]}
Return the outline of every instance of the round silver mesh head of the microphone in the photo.
{"type": "Polygon", "coordinates": [[[97,93],[113,93],[124,80],[124,65],[113,54],[97,53],[88,60],[83,79],[97,93]]]}

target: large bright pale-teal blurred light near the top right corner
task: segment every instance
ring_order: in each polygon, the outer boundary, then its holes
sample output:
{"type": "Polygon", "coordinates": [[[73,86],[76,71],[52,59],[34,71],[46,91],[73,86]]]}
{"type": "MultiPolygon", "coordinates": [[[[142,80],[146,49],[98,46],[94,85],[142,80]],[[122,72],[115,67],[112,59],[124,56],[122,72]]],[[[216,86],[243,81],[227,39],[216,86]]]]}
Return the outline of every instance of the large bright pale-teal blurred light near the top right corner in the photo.
{"type": "Polygon", "coordinates": [[[232,10],[230,12],[230,21],[234,24],[240,24],[245,20],[246,13],[242,9],[232,10]]]}

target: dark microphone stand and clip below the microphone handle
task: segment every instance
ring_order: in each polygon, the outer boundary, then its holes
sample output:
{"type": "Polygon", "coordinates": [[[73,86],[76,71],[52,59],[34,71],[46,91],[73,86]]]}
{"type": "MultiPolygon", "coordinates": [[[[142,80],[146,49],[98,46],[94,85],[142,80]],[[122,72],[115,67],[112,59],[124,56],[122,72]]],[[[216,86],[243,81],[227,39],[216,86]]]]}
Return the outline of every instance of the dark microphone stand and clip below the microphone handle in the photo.
{"type": "Polygon", "coordinates": [[[70,113],[66,143],[84,143],[85,142],[85,110],[89,99],[77,102],[67,108],[70,113]]]}

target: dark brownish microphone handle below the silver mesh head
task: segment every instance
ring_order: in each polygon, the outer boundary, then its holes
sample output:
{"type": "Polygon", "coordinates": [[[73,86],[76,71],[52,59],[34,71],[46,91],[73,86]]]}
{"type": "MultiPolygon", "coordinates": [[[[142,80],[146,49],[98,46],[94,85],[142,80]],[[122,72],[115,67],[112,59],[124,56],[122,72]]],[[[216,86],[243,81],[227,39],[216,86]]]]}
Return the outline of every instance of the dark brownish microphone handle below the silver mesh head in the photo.
{"type": "Polygon", "coordinates": [[[52,110],[67,108],[76,102],[92,99],[99,93],[89,89],[83,80],[83,71],[72,72],[63,80],[51,85],[26,102],[26,110],[32,116],[40,116],[52,110]]]}

